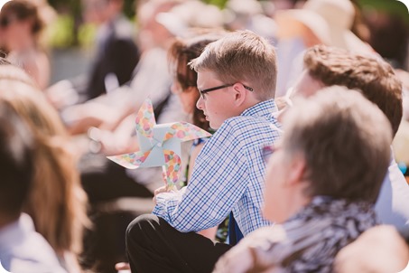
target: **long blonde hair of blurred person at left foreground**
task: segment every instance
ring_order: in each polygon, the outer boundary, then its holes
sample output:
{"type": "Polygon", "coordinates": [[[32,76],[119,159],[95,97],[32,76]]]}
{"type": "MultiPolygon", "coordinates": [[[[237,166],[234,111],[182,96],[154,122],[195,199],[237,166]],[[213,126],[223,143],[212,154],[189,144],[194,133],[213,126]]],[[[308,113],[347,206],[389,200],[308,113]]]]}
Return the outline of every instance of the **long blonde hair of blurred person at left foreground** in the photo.
{"type": "Polygon", "coordinates": [[[33,132],[35,169],[24,211],[59,255],[65,250],[79,254],[89,220],[76,157],[58,113],[23,75],[11,65],[0,66],[0,100],[8,102],[33,132]],[[3,77],[10,69],[14,77],[3,77]]]}

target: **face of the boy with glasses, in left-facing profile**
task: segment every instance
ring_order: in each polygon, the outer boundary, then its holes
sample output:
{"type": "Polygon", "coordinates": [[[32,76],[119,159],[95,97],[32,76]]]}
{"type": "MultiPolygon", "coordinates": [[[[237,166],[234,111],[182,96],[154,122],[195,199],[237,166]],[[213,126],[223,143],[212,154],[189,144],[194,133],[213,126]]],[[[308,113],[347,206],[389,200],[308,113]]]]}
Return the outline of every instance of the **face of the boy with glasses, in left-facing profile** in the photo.
{"type": "MultiPolygon", "coordinates": [[[[211,89],[214,87],[229,84],[231,82],[221,82],[211,71],[198,72],[198,89],[211,89]]],[[[235,107],[234,92],[232,87],[215,89],[209,93],[200,95],[196,107],[203,111],[206,120],[209,121],[210,127],[217,129],[228,119],[240,114],[235,107]]]]}

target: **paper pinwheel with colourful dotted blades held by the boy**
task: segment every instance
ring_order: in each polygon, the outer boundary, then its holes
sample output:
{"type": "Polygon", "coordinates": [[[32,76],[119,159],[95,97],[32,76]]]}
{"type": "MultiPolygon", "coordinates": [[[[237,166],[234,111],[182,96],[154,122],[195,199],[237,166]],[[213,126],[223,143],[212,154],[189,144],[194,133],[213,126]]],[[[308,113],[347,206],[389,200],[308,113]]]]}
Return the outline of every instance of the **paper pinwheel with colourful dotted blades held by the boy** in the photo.
{"type": "Polygon", "coordinates": [[[140,151],[107,158],[128,169],[162,166],[168,188],[174,188],[181,172],[181,142],[211,136],[187,122],[156,124],[150,99],[139,109],[135,127],[140,151]]]}

